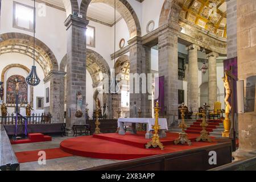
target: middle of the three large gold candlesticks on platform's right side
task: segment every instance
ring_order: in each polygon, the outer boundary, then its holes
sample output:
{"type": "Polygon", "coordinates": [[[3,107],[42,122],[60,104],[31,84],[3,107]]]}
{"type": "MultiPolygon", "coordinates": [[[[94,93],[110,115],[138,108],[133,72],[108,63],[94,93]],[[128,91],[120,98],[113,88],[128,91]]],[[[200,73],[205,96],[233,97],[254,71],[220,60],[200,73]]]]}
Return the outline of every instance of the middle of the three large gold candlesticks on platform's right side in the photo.
{"type": "Polygon", "coordinates": [[[180,111],[181,111],[181,123],[179,125],[179,127],[182,129],[181,133],[179,133],[179,138],[177,138],[174,141],[174,144],[184,144],[184,143],[188,143],[189,146],[191,146],[191,140],[188,139],[188,134],[185,133],[185,129],[187,129],[187,125],[185,124],[185,111],[187,109],[184,106],[184,103],[182,104],[180,111]]]}

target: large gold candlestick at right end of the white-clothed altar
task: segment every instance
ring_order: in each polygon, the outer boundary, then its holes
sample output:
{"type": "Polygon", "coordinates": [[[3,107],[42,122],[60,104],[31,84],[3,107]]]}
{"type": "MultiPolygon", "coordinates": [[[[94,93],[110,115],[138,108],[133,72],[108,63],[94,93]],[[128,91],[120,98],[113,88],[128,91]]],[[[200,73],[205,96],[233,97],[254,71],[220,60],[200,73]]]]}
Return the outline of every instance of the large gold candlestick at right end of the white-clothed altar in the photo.
{"type": "Polygon", "coordinates": [[[149,148],[151,146],[154,148],[159,147],[159,148],[161,148],[161,150],[163,150],[164,146],[160,142],[159,135],[158,135],[158,130],[160,129],[160,126],[158,125],[159,110],[160,110],[159,103],[156,102],[156,104],[155,104],[155,125],[153,126],[154,135],[153,135],[151,141],[148,142],[145,147],[146,148],[149,148]]]}

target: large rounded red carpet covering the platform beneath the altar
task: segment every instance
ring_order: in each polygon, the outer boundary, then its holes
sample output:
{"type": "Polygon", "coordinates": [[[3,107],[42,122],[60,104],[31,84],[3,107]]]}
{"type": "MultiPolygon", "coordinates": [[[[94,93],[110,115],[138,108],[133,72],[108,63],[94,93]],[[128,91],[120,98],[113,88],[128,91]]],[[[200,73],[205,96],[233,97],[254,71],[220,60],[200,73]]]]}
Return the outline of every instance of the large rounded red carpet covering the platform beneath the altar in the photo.
{"type": "MultiPolygon", "coordinates": [[[[196,136],[198,135],[188,135],[191,139],[195,139],[196,136]]],[[[192,146],[180,144],[174,145],[174,139],[177,137],[178,134],[168,133],[167,138],[161,140],[163,143],[170,143],[165,146],[163,151],[159,148],[144,148],[144,144],[149,140],[144,139],[144,135],[142,133],[137,135],[118,135],[117,133],[113,133],[100,134],[97,136],[76,137],[61,142],[60,148],[70,154],[89,158],[129,160],[216,144],[216,142],[193,142],[192,146]]]]}

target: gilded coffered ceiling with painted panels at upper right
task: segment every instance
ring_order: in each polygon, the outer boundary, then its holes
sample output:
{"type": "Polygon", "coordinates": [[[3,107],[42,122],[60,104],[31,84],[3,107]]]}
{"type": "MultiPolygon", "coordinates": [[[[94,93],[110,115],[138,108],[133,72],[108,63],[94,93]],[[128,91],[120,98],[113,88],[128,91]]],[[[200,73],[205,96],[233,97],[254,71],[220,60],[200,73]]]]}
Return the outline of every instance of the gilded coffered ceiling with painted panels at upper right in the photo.
{"type": "Polygon", "coordinates": [[[180,17],[226,38],[225,0],[186,0],[180,17]]]}

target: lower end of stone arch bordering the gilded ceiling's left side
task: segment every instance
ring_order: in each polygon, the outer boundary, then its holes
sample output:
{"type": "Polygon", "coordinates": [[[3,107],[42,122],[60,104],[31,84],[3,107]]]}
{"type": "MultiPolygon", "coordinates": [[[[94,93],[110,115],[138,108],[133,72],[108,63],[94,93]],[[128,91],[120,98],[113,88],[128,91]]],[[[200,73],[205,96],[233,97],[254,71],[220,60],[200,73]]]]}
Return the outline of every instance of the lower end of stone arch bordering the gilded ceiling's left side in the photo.
{"type": "Polygon", "coordinates": [[[165,0],[160,13],[159,27],[171,23],[177,26],[179,23],[179,14],[185,0],[165,0]]]}

